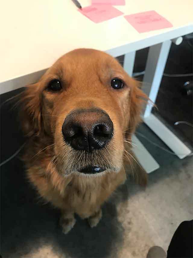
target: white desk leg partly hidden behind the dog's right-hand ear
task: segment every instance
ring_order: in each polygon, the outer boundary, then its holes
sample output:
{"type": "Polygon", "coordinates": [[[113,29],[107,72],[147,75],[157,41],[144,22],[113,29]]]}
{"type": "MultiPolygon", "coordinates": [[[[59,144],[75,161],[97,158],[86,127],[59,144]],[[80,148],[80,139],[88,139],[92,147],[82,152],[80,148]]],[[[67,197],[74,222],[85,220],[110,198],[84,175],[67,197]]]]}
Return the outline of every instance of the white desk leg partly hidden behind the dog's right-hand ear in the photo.
{"type": "MultiPolygon", "coordinates": [[[[135,51],[125,54],[123,68],[132,77],[133,67],[135,62],[135,51]]],[[[138,162],[144,168],[147,173],[150,173],[159,168],[159,164],[151,156],[151,154],[145,149],[143,144],[138,140],[136,136],[132,136],[132,141],[136,147],[133,148],[133,152],[138,159],[138,162]]]]}

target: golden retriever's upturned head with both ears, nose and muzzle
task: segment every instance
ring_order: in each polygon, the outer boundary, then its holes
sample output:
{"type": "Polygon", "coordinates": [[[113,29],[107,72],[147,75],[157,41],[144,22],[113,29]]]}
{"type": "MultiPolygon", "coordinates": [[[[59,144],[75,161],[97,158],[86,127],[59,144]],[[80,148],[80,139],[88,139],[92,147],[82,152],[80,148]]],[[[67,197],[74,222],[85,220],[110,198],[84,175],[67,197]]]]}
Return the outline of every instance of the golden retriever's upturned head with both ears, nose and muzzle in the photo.
{"type": "Polygon", "coordinates": [[[138,124],[144,96],[113,57],[74,50],[24,91],[24,131],[52,139],[54,162],[63,175],[118,172],[125,132],[138,124]]]}

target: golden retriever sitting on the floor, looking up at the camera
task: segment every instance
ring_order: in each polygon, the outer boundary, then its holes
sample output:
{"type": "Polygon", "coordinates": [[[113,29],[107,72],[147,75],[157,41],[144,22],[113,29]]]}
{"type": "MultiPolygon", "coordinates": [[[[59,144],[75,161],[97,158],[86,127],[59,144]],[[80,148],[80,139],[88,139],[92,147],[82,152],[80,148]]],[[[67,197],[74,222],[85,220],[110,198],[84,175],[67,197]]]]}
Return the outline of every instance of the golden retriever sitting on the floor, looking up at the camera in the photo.
{"type": "MultiPolygon", "coordinates": [[[[138,84],[110,55],[76,49],[22,93],[27,175],[61,210],[65,234],[74,214],[96,226],[103,203],[125,182],[131,134],[146,98],[138,84]]],[[[145,184],[146,174],[138,177],[145,184]]]]}

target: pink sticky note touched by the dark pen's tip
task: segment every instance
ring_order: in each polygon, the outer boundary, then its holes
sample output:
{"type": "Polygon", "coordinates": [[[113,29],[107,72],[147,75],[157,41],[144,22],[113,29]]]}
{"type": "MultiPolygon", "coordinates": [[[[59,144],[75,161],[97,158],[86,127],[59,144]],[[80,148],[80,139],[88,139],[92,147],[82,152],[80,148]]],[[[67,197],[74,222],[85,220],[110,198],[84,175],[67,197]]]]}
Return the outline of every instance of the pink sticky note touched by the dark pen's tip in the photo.
{"type": "Polygon", "coordinates": [[[107,21],[123,14],[111,5],[89,5],[78,11],[95,23],[107,21]]]}

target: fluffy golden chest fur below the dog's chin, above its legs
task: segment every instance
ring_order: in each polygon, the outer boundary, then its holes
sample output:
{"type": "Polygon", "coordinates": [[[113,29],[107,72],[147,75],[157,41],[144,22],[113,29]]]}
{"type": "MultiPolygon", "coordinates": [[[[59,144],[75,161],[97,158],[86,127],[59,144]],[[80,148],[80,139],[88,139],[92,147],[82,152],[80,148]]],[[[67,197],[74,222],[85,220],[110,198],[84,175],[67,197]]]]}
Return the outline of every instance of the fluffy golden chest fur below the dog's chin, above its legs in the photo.
{"type": "Polygon", "coordinates": [[[63,177],[55,168],[28,166],[27,174],[40,196],[60,209],[71,209],[86,218],[97,211],[118,185],[125,181],[125,172],[111,172],[97,177],[70,175],[63,177]]]}

